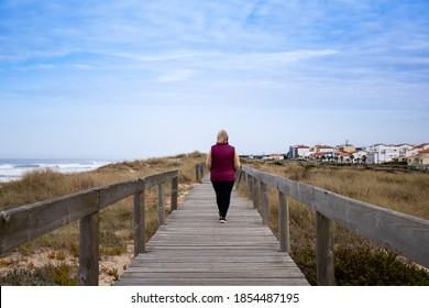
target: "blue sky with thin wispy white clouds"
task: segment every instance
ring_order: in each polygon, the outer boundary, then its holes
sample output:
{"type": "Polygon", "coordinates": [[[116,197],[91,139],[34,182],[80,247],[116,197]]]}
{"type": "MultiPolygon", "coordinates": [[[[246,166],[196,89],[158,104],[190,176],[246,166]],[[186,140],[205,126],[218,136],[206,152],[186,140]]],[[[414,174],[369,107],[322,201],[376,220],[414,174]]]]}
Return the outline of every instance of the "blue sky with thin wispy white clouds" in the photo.
{"type": "Polygon", "coordinates": [[[429,142],[429,1],[0,0],[0,157],[429,142]]]}

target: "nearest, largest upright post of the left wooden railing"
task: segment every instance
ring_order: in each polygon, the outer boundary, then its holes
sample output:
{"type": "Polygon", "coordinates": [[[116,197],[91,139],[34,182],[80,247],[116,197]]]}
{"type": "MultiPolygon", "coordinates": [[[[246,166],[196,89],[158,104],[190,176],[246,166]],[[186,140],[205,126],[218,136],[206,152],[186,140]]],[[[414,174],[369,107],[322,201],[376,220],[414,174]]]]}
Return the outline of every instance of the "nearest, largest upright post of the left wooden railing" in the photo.
{"type": "Polygon", "coordinates": [[[100,218],[99,212],[80,219],[79,285],[98,286],[100,218]]]}

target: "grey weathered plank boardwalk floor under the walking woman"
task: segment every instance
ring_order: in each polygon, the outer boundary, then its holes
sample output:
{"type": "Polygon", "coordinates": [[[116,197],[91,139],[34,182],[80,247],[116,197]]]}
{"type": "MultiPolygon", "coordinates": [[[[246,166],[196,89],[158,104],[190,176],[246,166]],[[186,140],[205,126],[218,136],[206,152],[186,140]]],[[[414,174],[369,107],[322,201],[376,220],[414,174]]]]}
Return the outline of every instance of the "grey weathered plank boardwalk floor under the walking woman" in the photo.
{"type": "Polygon", "coordinates": [[[252,204],[232,191],[228,222],[218,221],[206,176],[116,283],[162,285],[309,285],[252,204]]]}

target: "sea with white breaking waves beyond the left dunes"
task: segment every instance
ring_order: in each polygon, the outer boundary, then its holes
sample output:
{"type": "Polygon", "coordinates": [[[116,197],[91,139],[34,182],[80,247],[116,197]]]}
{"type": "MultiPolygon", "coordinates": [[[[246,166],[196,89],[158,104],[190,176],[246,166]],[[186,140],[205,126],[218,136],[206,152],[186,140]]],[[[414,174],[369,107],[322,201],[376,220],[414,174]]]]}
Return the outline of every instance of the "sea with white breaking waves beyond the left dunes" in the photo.
{"type": "Polygon", "coordinates": [[[52,169],[58,173],[90,172],[118,160],[77,160],[77,158],[0,158],[0,183],[19,180],[25,173],[32,170],[52,169]]]}

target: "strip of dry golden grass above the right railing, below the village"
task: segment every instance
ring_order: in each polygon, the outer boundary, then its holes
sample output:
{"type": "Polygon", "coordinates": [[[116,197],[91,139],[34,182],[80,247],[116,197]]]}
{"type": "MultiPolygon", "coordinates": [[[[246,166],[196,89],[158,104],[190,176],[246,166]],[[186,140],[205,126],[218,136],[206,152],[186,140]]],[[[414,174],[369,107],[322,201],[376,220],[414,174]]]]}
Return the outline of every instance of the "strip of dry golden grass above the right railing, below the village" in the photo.
{"type": "Polygon", "coordinates": [[[421,172],[372,170],[365,168],[314,166],[305,163],[257,163],[256,168],[327,190],[429,219],[429,174],[421,172]]]}

